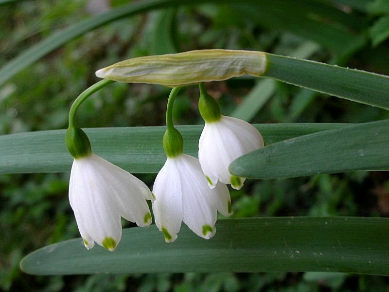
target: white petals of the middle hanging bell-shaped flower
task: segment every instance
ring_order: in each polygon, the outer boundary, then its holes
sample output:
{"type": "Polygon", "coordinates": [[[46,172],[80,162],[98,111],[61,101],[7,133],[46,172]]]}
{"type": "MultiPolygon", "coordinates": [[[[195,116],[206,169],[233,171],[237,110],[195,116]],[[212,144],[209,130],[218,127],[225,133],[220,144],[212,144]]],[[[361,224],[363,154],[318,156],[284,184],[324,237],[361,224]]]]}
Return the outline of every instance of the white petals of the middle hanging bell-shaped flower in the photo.
{"type": "Polygon", "coordinates": [[[225,184],[208,187],[198,159],[178,154],[167,158],[153,186],[155,222],[166,242],[173,242],[183,221],[196,235],[209,239],[216,232],[217,211],[231,214],[225,184]]]}

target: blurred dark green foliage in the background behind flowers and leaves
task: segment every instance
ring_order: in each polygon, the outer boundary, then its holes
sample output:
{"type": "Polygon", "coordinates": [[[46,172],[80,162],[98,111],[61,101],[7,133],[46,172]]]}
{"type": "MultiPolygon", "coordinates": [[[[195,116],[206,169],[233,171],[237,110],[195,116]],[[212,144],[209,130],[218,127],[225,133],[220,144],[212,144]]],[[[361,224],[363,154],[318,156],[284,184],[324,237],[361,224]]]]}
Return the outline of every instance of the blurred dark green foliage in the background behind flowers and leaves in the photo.
{"type": "MultiPolygon", "coordinates": [[[[256,2],[176,5],[124,17],[67,41],[1,85],[0,134],[66,128],[71,102],[97,81],[94,72],[134,56],[205,48],[246,49],[389,74],[387,1],[256,2]]],[[[46,37],[127,3],[0,1],[0,68],[46,37]]],[[[218,99],[223,114],[253,123],[359,123],[389,118],[386,110],[270,79],[213,83],[210,93],[218,99]]],[[[113,84],[84,103],[78,121],[83,127],[164,125],[167,95],[168,89],[160,86],[113,84]]],[[[201,123],[197,97],[197,88],[189,87],[176,99],[177,124],[201,123]]],[[[151,186],[155,175],[138,177],[151,186]]],[[[68,180],[69,173],[0,175],[2,291],[388,289],[386,277],[340,273],[23,274],[18,268],[23,255],[79,236],[68,203],[68,180]]],[[[231,197],[235,218],[389,215],[385,172],[248,180],[242,190],[231,190],[231,197]]]]}

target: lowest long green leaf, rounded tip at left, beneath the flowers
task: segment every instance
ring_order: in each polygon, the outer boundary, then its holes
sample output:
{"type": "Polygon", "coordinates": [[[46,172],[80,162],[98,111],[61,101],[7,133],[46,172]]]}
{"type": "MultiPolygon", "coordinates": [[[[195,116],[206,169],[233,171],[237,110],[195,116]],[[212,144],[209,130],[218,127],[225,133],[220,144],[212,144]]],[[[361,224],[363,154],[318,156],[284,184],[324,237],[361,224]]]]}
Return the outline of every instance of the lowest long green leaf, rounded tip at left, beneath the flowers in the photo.
{"type": "Polygon", "coordinates": [[[210,240],[181,227],[165,243],[155,225],[124,229],[115,252],[87,251],[81,238],[22,259],[30,274],[347,272],[389,275],[387,218],[224,219],[210,240]],[[361,240],[363,238],[363,240],[361,240]]]}

